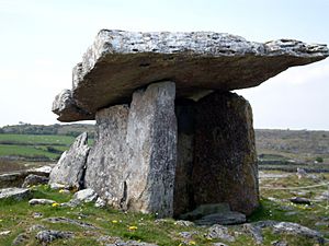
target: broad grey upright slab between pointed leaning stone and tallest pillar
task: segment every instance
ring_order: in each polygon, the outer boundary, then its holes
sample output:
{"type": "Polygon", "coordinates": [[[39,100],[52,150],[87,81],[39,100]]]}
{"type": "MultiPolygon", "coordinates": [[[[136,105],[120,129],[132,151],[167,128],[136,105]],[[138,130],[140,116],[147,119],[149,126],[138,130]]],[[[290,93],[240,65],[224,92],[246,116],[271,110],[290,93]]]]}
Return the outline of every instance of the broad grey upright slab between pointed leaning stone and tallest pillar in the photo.
{"type": "Polygon", "coordinates": [[[95,143],[90,151],[84,183],[114,208],[122,208],[127,168],[126,133],[128,106],[117,105],[97,113],[95,143]]]}

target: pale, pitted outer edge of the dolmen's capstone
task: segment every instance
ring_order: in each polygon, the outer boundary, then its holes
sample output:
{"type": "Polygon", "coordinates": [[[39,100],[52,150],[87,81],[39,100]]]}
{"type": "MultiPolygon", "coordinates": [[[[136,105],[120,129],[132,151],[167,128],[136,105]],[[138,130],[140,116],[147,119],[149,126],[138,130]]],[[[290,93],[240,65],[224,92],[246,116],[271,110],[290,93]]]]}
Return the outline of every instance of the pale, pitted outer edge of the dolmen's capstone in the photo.
{"type": "Polygon", "coordinates": [[[248,42],[243,37],[214,32],[126,32],[102,30],[92,46],[73,68],[72,89],[106,55],[127,54],[194,55],[201,57],[234,56],[292,56],[325,59],[327,45],[306,44],[295,39],[277,39],[262,43],[248,42]]]}

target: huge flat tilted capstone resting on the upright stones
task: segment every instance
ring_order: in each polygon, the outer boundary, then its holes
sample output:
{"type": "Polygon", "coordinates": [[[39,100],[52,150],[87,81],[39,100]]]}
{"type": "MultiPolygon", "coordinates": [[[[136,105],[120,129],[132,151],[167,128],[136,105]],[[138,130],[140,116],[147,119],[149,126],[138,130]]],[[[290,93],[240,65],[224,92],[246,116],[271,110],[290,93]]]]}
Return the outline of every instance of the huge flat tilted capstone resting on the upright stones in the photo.
{"type": "Polygon", "coordinates": [[[134,91],[157,81],[174,81],[177,98],[257,86],[328,56],[326,45],[293,39],[261,44],[213,32],[102,30],[73,69],[72,90],[55,98],[53,112],[60,121],[93,119],[100,108],[129,103],[134,91]]]}

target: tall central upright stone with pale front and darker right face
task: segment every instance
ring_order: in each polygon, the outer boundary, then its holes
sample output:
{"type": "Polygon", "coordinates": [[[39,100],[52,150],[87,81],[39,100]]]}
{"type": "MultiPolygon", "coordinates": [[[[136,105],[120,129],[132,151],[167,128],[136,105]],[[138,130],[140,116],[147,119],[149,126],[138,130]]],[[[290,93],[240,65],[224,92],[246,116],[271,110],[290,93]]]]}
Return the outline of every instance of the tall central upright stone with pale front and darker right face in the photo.
{"type": "Polygon", "coordinates": [[[127,143],[128,209],[172,215],[177,162],[175,84],[150,84],[134,93],[127,143]]]}

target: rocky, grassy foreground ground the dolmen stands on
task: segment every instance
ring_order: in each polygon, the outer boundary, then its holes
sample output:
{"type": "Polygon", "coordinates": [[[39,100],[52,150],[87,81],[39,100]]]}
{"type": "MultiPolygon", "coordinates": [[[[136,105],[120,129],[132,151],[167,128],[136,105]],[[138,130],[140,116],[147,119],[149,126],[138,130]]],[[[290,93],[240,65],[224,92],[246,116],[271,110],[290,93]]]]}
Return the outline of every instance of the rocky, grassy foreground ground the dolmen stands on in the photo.
{"type": "Polygon", "coordinates": [[[234,225],[116,211],[36,179],[0,191],[0,245],[329,245],[327,174],[261,172],[261,207],[234,225]]]}

